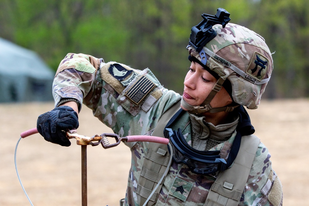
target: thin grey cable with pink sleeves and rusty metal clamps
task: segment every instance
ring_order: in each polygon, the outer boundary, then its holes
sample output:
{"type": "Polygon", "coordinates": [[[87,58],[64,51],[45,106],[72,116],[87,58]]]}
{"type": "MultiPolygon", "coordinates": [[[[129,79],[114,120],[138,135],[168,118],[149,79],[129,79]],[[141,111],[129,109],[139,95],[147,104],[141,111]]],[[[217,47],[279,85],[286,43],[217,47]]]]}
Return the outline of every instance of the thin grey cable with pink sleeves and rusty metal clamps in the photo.
{"type": "MultiPolygon", "coordinates": [[[[78,135],[78,134],[74,134],[76,132],[76,130],[71,130],[71,131],[68,131],[66,132],[67,133],[67,137],[70,139],[70,138],[75,138],[77,140],[77,144],[78,145],[92,145],[92,146],[95,146],[95,145],[98,145],[99,143],[102,144],[102,146],[104,147],[104,149],[106,148],[110,148],[110,147],[114,147],[114,146],[117,146],[121,141],[126,141],[126,142],[135,142],[135,141],[146,141],[146,142],[155,142],[155,143],[159,143],[159,144],[165,144],[167,145],[168,144],[168,147],[171,148],[171,145],[169,143],[169,139],[166,139],[166,138],[162,138],[162,137],[155,137],[155,136],[145,136],[145,135],[133,135],[133,136],[126,136],[126,137],[119,137],[117,134],[106,134],[106,133],[103,133],[101,136],[93,136],[93,137],[87,137],[87,136],[83,136],[83,135],[78,135]],[[104,139],[106,140],[107,137],[113,137],[116,139],[116,143],[114,144],[107,144],[106,141],[104,141],[104,139]],[[96,143],[92,143],[92,141],[99,141],[99,142],[96,142],[96,143]]],[[[37,129],[36,128],[32,128],[32,129],[29,129],[27,131],[24,131],[20,134],[20,138],[19,140],[17,141],[17,144],[16,144],[16,147],[15,147],[15,154],[14,154],[14,162],[15,162],[15,169],[16,169],[16,173],[17,173],[17,177],[18,177],[18,180],[19,180],[19,183],[21,185],[21,187],[23,188],[23,192],[25,193],[27,199],[29,200],[30,204],[33,206],[26,190],[24,189],[23,187],[23,184],[20,180],[20,177],[19,177],[19,174],[18,174],[18,170],[17,170],[17,164],[16,164],[16,153],[17,153],[17,146],[19,144],[19,141],[22,139],[22,138],[25,138],[25,137],[28,137],[28,136],[31,136],[33,134],[36,134],[38,133],[37,129]]],[[[171,160],[172,160],[172,150],[170,149],[171,151],[171,158],[168,162],[168,166],[162,176],[162,178],[159,180],[157,186],[154,188],[154,190],[151,192],[151,194],[149,195],[148,199],[146,200],[144,206],[147,204],[147,202],[150,200],[151,196],[154,194],[155,190],[158,188],[158,186],[161,184],[161,182],[163,181],[164,177],[166,176],[167,174],[167,171],[169,170],[169,167],[171,165],[171,160]]]]}

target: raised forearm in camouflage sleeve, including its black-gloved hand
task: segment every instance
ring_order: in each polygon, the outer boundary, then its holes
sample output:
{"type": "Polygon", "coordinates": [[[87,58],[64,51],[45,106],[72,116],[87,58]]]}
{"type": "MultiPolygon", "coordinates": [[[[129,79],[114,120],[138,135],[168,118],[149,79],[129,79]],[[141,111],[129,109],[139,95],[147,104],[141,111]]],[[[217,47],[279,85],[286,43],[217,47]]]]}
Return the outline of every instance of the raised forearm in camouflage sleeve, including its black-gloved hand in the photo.
{"type": "Polygon", "coordinates": [[[46,141],[70,146],[66,129],[78,128],[83,96],[91,90],[100,60],[83,54],[68,54],[61,61],[53,82],[55,109],[40,115],[37,130],[46,141]]]}

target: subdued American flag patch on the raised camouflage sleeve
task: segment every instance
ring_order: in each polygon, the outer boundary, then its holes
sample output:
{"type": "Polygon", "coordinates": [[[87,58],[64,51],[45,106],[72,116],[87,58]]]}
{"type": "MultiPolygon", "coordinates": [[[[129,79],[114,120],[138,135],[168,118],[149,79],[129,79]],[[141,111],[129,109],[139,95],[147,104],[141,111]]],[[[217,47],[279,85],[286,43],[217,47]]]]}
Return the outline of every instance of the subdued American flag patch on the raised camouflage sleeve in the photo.
{"type": "Polygon", "coordinates": [[[142,76],[127,91],[125,96],[135,105],[139,103],[155,88],[155,83],[151,82],[147,77],[142,76]]]}

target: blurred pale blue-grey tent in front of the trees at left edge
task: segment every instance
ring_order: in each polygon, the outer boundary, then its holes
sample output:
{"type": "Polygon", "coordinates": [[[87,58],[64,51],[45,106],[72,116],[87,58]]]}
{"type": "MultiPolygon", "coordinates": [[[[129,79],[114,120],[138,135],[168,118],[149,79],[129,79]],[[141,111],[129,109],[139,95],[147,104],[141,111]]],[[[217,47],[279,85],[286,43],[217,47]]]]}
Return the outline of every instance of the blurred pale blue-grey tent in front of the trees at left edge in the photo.
{"type": "Polygon", "coordinates": [[[0,103],[52,100],[54,74],[35,52],[0,38],[0,103]]]}

